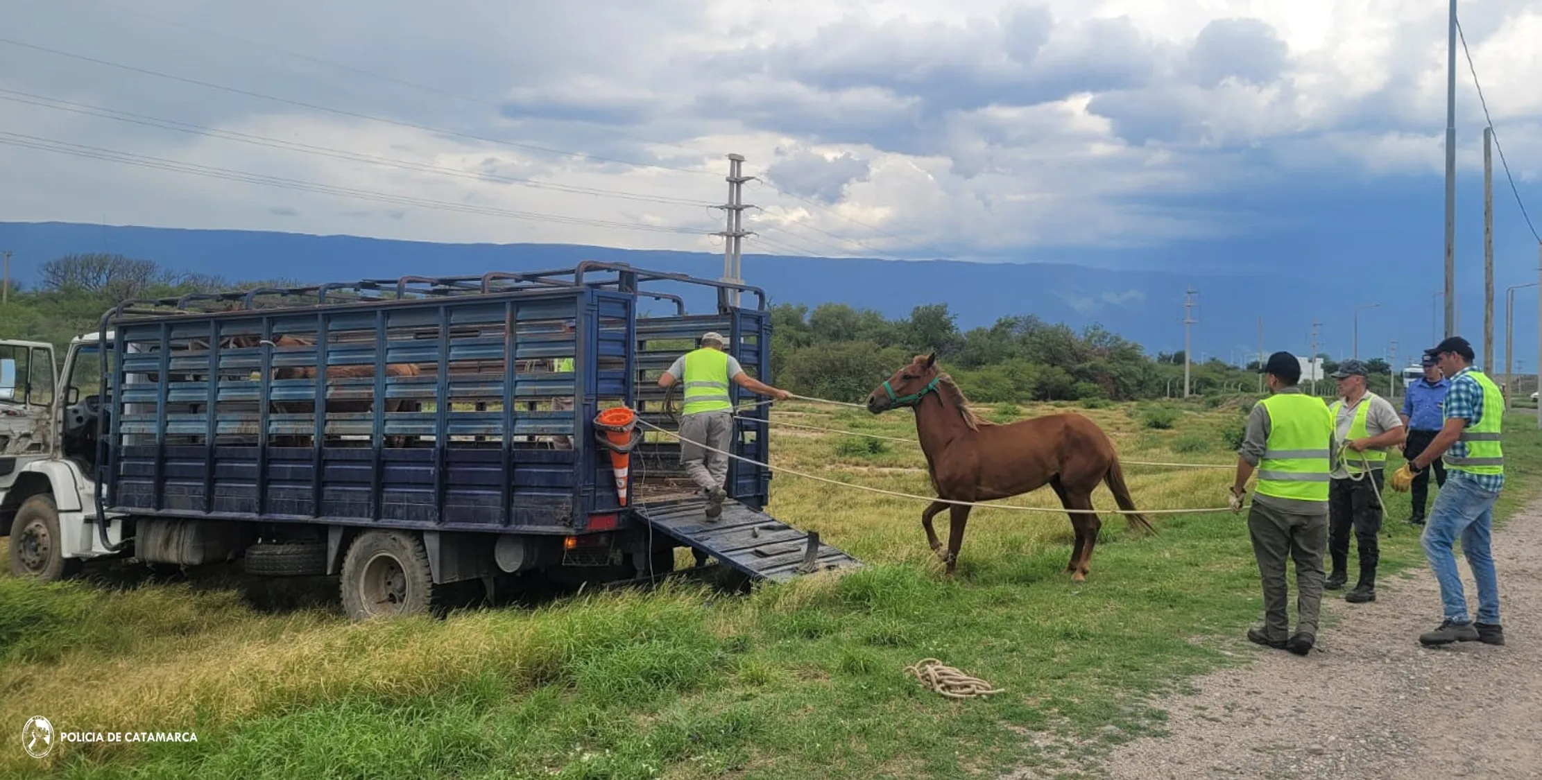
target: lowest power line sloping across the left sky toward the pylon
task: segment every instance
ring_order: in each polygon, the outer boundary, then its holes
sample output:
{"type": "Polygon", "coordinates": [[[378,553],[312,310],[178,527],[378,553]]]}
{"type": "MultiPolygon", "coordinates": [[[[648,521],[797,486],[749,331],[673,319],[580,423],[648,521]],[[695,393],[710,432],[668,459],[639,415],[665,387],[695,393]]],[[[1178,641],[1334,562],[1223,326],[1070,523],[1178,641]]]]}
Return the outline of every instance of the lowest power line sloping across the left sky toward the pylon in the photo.
{"type": "Polygon", "coordinates": [[[20,146],[39,151],[51,151],[57,154],[68,154],[72,157],[94,159],[103,162],[119,162],[125,165],[134,165],[140,168],[153,168],[162,171],[183,173],[190,176],[200,176],[208,179],[222,179],[228,182],[256,183],[264,187],[273,187],[279,190],[293,190],[304,193],[318,194],[333,194],[342,197],[353,197],[358,200],[373,200],[381,203],[407,205],[419,208],[433,208],[439,211],[458,211],[466,214],[484,214],[498,216],[509,219],[524,219],[534,222],[550,222],[561,225],[586,225],[586,227],[601,227],[601,228],[620,228],[620,230],[640,230],[645,233],[677,233],[677,234],[694,234],[705,236],[709,234],[706,230],[692,228],[671,228],[665,225],[643,225],[637,222],[615,222],[608,219],[588,219],[588,217],[569,217],[561,214],[543,214],[535,211],[515,211],[497,207],[478,207],[472,203],[453,203],[449,200],[433,200],[427,197],[413,196],[396,196],[389,193],[376,193],[372,190],[356,190],[348,187],[324,185],[316,182],[305,182],[301,179],[287,179],[279,176],[256,174],[248,171],[237,171],[230,168],[217,168],[213,165],[199,165],[180,160],[170,160],[165,157],[153,157],[148,154],[134,154],[119,150],[108,150],[102,146],[88,146],[82,143],[69,143],[54,139],[45,139],[37,136],[26,136],[20,133],[0,131],[0,145],[20,146]]]}

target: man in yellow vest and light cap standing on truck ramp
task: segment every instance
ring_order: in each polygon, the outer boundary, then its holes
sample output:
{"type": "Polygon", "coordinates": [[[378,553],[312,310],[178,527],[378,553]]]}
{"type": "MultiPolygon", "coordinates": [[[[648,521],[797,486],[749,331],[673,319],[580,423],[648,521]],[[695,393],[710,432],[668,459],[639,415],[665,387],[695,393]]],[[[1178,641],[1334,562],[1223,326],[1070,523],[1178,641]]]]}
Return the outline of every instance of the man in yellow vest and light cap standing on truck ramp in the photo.
{"type": "Polygon", "coordinates": [[[719,333],[703,333],[702,345],[682,355],[658,378],[658,387],[682,381],[685,405],[680,408],[680,462],[706,493],[706,516],[717,519],[728,498],[726,453],[734,442],[734,404],[728,395],[728,384],[777,401],[791,398],[791,393],[746,375],[739,361],[723,351],[723,336],[719,333]]]}

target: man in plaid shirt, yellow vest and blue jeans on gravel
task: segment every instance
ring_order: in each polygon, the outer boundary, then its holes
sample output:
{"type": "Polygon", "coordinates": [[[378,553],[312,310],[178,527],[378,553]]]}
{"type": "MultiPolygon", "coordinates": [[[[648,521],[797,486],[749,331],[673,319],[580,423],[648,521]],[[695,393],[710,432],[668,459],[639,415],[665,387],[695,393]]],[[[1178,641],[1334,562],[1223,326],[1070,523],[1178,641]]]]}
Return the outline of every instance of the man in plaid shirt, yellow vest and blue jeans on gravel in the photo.
{"type": "Polygon", "coordinates": [[[1505,461],[1500,449],[1500,425],[1505,416],[1503,396],[1488,376],[1473,368],[1473,345],[1462,336],[1451,336],[1429,350],[1440,372],[1451,381],[1445,398],[1445,424],[1425,452],[1414,456],[1408,469],[1423,472],[1436,458],[1445,459],[1446,484],[1429,509],[1423,546],[1440,583],[1445,620],[1436,630],[1419,637],[1426,646],[1479,640],[1503,644],[1499,624],[1499,580],[1490,553],[1494,524],[1494,501],[1505,487],[1505,461]],[[1457,573],[1453,543],[1462,540],[1462,552],[1473,567],[1477,584],[1477,620],[1468,621],[1466,598],[1457,573]]]}

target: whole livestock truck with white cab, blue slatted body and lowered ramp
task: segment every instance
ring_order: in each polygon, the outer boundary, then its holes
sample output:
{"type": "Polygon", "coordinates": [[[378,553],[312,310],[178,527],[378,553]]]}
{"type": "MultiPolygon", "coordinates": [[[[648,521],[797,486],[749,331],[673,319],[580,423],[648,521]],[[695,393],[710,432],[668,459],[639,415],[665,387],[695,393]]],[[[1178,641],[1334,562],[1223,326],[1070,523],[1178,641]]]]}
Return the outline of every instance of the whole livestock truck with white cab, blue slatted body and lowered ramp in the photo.
{"type": "Polygon", "coordinates": [[[751,580],[856,566],[765,515],[766,404],[736,413],[745,459],[706,519],[678,442],[651,427],[675,430],[657,378],[705,331],[769,381],[763,291],[620,264],[130,301],[71,345],[48,441],[0,478],[11,572],[241,560],[338,575],[369,618],[500,577],[652,578],[675,547],[751,580]],[[668,285],[715,291],[715,311],[668,285]],[[643,422],[620,489],[626,447],[595,425],[612,407],[643,422]]]}

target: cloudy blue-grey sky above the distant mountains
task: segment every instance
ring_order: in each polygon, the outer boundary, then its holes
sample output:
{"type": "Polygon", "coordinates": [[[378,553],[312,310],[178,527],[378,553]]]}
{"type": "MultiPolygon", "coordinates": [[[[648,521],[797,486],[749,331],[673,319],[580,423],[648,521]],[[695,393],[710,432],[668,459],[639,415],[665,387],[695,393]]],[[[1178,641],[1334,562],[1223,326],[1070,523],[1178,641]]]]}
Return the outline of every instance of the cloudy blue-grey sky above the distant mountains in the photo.
{"type": "MultiPolygon", "coordinates": [[[[8,0],[0,219],[720,251],[739,153],[762,207],[746,251],[1214,270],[1294,247],[1329,271],[1380,247],[1420,253],[1433,288],[1445,12],[8,0]]],[[[1542,0],[1462,0],[1462,20],[1542,210],[1542,0]]],[[[1466,251],[1483,116],[1465,60],[1457,125],[1466,251]]],[[[1522,257],[1505,179],[1496,208],[1522,257]]]]}

